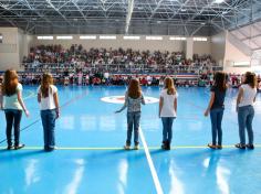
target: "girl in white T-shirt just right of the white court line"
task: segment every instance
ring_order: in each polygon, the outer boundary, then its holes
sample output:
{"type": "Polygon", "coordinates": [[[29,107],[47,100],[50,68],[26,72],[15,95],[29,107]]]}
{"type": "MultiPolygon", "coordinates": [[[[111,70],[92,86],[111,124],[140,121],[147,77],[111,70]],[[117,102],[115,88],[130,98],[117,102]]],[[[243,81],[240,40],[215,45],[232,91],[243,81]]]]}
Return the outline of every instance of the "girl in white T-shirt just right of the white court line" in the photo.
{"type": "Polygon", "coordinates": [[[177,117],[178,93],[174,86],[174,80],[166,77],[164,89],[159,98],[159,117],[163,121],[163,146],[164,150],[170,150],[173,139],[173,122],[177,117]]]}

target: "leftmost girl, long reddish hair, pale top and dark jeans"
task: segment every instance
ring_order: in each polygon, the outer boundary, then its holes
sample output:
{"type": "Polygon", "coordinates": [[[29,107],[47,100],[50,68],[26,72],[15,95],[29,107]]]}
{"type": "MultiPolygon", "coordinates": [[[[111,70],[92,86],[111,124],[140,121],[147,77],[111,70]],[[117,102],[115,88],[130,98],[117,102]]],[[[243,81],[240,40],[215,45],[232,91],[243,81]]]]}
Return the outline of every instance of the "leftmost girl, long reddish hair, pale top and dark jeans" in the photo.
{"type": "Polygon", "coordinates": [[[13,69],[8,69],[3,76],[3,84],[0,96],[1,109],[4,110],[7,120],[7,141],[8,150],[21,149],[24,144],[20,144],[20,122],[22,119],[22,110],[29,117],[22,98],[22,85],[18,80],[18,74],[13,69]],[[12,144],[12,127],[14,129],[14,147],[12,144]]]}

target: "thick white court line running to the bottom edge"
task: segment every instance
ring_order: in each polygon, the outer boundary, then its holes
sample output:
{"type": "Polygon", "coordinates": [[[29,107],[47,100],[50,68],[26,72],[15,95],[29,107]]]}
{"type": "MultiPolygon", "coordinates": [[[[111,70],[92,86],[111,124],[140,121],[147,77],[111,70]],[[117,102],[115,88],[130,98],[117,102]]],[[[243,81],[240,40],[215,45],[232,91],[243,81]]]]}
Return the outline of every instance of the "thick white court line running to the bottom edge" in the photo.
{"type": "Polygon", "coordinates": [[[142,142],[143,142],[144,151],[145,151],[145,154],[146,154],[146,158],[147,158],[147,161],[148,161],[149,170],[150,170],[152,175],[153,175],[153,181],[154,181],[157,194],[163,194],[164,193],[163,187],[160,185],[158,174],[157,174],[156,169],[154,166],[153,159],[150,157],[148,146],[147,146],[147,142],[145,140],[145,137],[144,137],[144,133],[143,133],[143,130],[142,130],[140,127],[139,127],[139,134],[140,134],[140,139],[142,139],[142,142]]]}

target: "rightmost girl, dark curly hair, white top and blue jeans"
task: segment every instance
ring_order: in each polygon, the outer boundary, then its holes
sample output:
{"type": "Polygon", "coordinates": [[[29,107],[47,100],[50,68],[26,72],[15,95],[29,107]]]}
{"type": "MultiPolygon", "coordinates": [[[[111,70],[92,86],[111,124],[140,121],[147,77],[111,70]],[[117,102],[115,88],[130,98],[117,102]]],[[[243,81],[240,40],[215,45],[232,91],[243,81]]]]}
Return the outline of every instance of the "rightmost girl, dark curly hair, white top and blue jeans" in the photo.
{"type": "Polygon", "coordinates": [[[247,72],[242,77],[242,85],[239,88],[237,98],[237,112],[239,123],[240,143],[236,144],[239,149],[254,149],[253,147],[253,129],[252,121],[254,117],[253,103],[257,96],[257,76],[247,72]],[[249,137],[249,144],[246,144],[246,128],[249,137]]]}

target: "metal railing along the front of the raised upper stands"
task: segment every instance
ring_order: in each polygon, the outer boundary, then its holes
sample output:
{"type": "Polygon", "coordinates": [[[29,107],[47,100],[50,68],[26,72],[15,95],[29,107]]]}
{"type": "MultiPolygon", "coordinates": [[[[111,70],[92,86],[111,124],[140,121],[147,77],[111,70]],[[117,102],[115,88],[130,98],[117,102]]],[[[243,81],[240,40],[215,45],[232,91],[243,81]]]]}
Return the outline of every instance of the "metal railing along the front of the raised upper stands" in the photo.
{"type": "Polygon", "coordinates": [[[203,72],[222,71],[220,66],[191,66],[191,65],[148,65],[148,64],[90,64],[82,66],[71,63],[23,63],[22,67],[27,73],[50,72],[53,74],[82,71],[83,73],[112,74],[201,74],[203,72]]]}

